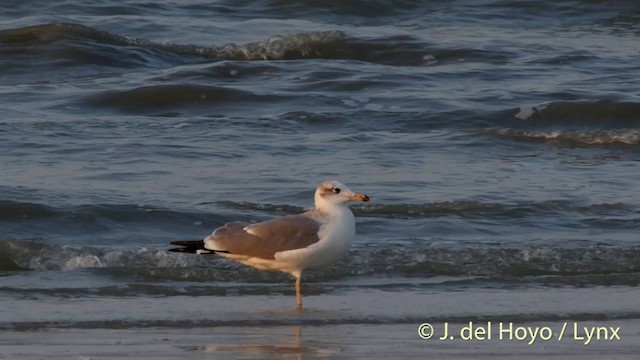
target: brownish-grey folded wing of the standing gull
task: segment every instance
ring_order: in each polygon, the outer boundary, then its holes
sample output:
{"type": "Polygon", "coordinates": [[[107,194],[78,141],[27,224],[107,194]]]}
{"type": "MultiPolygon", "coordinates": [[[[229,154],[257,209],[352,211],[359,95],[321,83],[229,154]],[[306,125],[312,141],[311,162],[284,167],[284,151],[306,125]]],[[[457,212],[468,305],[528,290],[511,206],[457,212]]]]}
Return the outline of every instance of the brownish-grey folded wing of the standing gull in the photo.
{"type": "Polygon", "coordinates": [[[231,222],[205,239],[205,247],[235,255],[273,259],[277,252],[301,249],[318,242],[321,225],[302,214],[257,224],[231,222]]]}

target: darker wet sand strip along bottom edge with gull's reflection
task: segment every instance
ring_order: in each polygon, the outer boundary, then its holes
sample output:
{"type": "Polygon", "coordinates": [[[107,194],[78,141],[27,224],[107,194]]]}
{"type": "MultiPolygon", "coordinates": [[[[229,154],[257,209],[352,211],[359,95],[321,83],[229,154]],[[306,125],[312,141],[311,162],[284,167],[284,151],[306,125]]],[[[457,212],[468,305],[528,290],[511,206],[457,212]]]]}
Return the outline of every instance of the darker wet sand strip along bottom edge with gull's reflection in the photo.
{"type": "MultiPolygon", "coordinates": [[[[519,323],[560,329],[564,322],[519,323]]],[[[450,324],[462,329],[466,323],[450,324]]],[[[565,338],[526,341],[420,339],[418,324],[343,324],[326,326],[235,326],[208,328],[48,329],[4,331],[3,359],[637,359],[640,321],[581,322],[580,326],[617,328],[616,339],[565,338]]],[[[611,333],[609,334],[611,335],[611,333]]],[[[505,336],[506,337],[506,336],[505,336]]]]}

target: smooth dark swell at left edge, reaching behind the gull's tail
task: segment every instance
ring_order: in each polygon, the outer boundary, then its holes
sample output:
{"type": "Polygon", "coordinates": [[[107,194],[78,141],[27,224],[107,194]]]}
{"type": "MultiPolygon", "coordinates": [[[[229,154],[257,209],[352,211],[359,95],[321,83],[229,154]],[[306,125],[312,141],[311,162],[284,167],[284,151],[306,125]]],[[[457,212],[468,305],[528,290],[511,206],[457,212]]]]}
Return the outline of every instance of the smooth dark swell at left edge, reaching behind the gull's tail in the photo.
{"type": "Polygon", "coordinates": [[[109,239],[111,243],[154,243],[158,238],[182,237],[185,234],[202,237],[211,229],[232,220],[224,211],[210,214],[131,204],[52,207],[0,202],[3,234],[22,234],[26,238],[47,239],[52,243],[82,244],[96,237],[109,239]]]}

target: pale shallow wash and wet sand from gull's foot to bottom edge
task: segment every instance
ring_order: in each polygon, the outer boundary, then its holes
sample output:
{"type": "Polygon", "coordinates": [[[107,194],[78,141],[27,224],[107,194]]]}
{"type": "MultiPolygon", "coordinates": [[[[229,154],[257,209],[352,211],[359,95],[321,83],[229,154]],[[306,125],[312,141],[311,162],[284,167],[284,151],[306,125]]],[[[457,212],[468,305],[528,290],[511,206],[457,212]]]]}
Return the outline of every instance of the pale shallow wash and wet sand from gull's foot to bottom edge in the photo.
{"type": "Polygon", "coordinates": [[[343,290],[305,297],[302,311],[293,307],[293,296],[22,299],[2,304],[0,358],[637,359],[637,291],[343,290]],[[594,314],[603,313],[610,317],[597,320],[594,314]],[[468,333],[474,338],[465,340],[469,321],[474,328],[468,333]],[[427,340],[418,332],[425,322],[434,329],[427,340]],[[504,333],[501,339],[500,326],[509,323],[514,336],[509,339],[504,333]],[[529,327],[538,329],[533,341],[529,327]],[[585,344],[585,327],[600,328],[601,338],[585,344]],[[517,328],[524,330],[518,333],[517,328]],[[544,328],[548,330],[543,334],[544,328]]]}

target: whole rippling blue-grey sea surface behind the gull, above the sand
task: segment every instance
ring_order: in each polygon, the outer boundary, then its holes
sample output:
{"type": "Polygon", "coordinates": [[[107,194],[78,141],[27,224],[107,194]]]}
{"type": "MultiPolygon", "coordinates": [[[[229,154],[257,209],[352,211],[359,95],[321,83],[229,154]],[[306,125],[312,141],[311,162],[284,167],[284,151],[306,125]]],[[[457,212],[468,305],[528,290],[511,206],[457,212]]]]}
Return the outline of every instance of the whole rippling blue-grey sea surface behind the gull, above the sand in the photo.
{"type": "Polygon", "coordinates": [[[2,2],[0,331],[640,319],[639,37],[636,1],[2,2]],[[303,314],[167,252],[325,179],[373,202],[303,314]]]}

